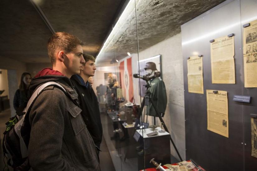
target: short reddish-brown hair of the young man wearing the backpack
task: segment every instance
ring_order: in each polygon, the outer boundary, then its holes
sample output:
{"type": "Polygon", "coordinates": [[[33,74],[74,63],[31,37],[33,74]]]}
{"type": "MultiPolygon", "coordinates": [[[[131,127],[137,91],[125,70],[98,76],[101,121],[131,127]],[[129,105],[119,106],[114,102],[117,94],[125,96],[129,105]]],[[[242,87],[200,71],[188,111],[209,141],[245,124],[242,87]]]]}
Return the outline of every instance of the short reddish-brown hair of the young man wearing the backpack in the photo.
{"type": "Polygon", "coordinates": [[[64,53],[70,53],[78,45],[83,46],[79,38],[66,32],[56,32],[52,35],[47,42],[48,56],[52,64],[56,63],[55,52],[56,50],[63,50],[64,53]]]}

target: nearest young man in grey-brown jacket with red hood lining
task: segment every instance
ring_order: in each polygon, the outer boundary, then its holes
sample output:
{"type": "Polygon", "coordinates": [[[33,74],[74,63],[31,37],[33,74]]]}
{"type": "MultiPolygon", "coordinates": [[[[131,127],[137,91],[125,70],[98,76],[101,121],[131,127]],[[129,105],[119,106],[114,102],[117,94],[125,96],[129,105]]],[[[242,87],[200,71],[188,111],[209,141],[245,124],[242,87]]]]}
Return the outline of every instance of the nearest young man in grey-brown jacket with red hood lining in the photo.
{"type": "Polygon", "coordinates": [[[32,170],[101,170],[98,155],[81,117],[78,95],[70,77],[79,74],[85,62],[81,41],[68,33],[57,32],[48,41],[48,55],[53,69],[45,68],[31,81],[31,90],[45,82],[46,87],[32,104],[28,159],[32,170]]]}

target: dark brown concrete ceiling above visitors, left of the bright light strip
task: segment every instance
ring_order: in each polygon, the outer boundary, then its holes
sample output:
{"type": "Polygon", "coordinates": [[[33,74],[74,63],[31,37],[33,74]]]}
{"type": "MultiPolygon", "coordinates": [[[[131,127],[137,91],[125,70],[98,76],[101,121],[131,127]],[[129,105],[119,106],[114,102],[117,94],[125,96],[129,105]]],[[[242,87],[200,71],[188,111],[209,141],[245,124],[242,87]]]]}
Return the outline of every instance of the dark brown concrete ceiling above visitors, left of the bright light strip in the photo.
{"type": "MultiPolygon", "coordinates": [[[[125,0],[34,0],[55,31],[76,35],[96,55],[125,0]]],[[[46,43],[52,32],[30,0],[0,1],[0,56],[21,62],[49,62],[46,43]]]]}

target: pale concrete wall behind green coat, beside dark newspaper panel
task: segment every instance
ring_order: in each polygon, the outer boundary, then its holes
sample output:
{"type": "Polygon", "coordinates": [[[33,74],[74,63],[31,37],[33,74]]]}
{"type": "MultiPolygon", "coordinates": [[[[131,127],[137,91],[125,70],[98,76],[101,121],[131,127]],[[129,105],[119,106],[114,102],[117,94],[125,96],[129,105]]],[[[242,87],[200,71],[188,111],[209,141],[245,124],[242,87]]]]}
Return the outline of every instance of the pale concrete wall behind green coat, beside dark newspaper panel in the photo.
{"type": "MultiPolygon", "coordinates": [[[[181,34],[179,33],[148,49],[140,51],[139,60],[158,54],[162,55],[162,75],[168,97],[164,122],[171,132],[172,139],[182,159],[185,159],[185,113],[181,34]]],[[[179,159],[172,145],[171,149],[172,155],[179,159]]]]}

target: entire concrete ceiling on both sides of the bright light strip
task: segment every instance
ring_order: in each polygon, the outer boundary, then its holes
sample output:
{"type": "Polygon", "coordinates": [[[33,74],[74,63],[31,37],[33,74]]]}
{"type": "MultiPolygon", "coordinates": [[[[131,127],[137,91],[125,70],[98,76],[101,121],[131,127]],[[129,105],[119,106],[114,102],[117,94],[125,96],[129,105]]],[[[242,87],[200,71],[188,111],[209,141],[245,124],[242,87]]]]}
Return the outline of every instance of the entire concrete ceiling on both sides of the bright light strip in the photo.
{"type": "MultiPolygon", "coordinates": [[[[105,61],[146,49],[180,32],[180,25],[224,0],[136,0],[105,47],[105,61]],[[114,54],[114,55],[113,55],[114,54]]],[[[125,0],[34,0],[55,31],[78,36],[84,53],[96,55],[125,0]]],[[[133,1],[134,3],[134,1],[133,1]]],[[[46,43],[52,32],[30,0],[0,1],[0,56],[22,62],[49,62],[46,43]]]]}

